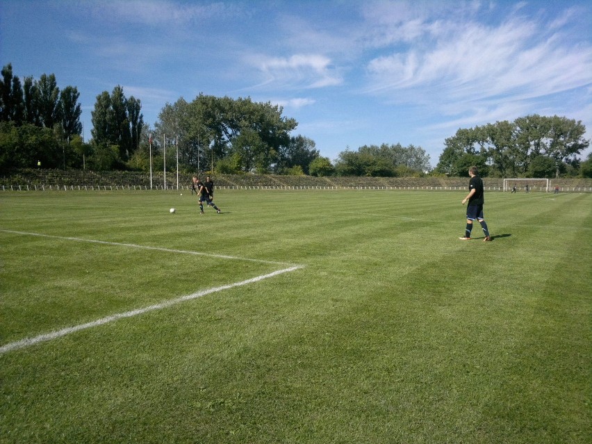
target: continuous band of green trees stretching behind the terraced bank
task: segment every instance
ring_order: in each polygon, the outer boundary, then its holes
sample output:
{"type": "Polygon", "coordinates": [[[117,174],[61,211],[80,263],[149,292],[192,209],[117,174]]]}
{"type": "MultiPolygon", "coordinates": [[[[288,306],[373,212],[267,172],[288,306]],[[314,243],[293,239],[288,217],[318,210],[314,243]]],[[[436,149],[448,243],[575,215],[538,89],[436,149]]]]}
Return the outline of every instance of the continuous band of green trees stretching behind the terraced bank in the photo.
{"type": "Polygon", "coordinates": [[[92,138],[85,142],[76,87],[58,88],[54,74],[21,83],[12,65],[0,79],[0,169],[33,167],[90,170],[211,170],[220,174],[311,174],[314,176],[466,176],[477,165],[483,176],[591,176],[582,122],[529,115],[459,129],[445,140],[431,171],[422,147],[399,143],[341,151],[334,162],[315,142],[293,135],[298,123],[283,108],[249,97],[199,94],[165,104],[151,128],[140,99],[120,85],[101,92],[92,110],[92,138]]]}

